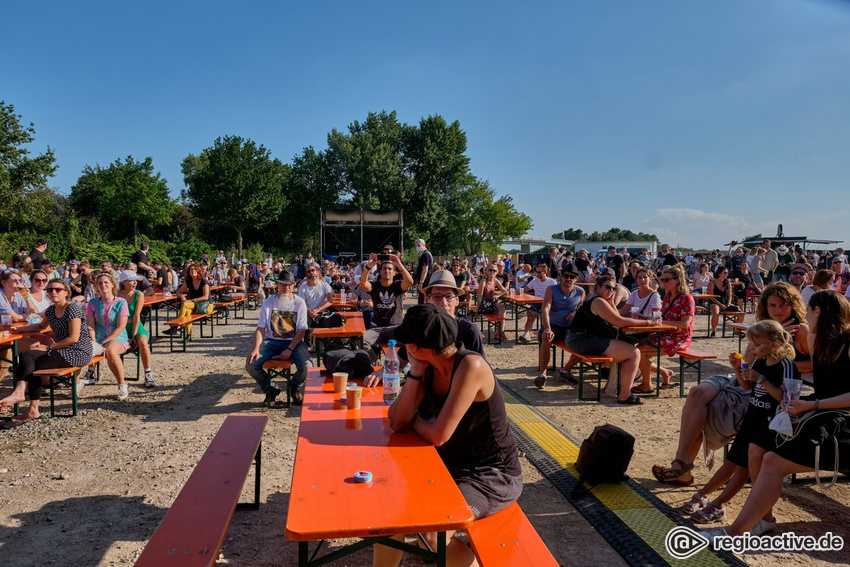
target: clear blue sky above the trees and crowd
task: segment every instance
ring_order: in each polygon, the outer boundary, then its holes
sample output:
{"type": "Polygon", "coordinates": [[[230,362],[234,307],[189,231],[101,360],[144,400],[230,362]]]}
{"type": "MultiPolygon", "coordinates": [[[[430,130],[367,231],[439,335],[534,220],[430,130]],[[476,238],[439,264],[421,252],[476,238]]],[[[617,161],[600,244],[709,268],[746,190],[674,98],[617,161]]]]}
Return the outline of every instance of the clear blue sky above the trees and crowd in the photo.
{"type": "MultiPolygon", "coordinates": [[[[844,240],[850,3],[15,2],[0,99],[85,165],[239,135],[289,162],[371,111],[458,120],[533,235],[844,240]]],[[[850,239],[848,239],[850,240],[850,239]]]]}

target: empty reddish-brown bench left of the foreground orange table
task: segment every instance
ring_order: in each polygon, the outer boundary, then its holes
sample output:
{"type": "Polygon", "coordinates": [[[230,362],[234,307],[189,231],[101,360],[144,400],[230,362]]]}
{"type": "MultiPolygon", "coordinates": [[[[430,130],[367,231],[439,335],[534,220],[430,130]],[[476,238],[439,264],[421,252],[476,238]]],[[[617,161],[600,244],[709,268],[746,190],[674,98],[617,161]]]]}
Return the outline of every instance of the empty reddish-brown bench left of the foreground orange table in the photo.
{"type": "Polygon", "coordinates": [[[227,416],[154,532],[138,566],[214,565],[236,510],[260,507],[262,438],[268,416],[227,416]],[[254,502],[239,496],[254,463],[254,502]]]}

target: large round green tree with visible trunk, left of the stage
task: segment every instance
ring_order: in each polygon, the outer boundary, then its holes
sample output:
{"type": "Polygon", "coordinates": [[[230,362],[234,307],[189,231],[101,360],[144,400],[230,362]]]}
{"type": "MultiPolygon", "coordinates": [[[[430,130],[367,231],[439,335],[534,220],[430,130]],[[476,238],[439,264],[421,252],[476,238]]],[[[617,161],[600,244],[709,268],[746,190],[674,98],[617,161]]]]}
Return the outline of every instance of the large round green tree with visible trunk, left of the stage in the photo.
{"type": "Polygon", "coordinates": [[[200,155],[189,154],[183,160],[192,212],[236,231],[240,254],[242,233],[277,219],[287,204],[283,187],[289,172],[289,166],[273,159],[262,145],[239,136],[218,138],[200,155]]]}

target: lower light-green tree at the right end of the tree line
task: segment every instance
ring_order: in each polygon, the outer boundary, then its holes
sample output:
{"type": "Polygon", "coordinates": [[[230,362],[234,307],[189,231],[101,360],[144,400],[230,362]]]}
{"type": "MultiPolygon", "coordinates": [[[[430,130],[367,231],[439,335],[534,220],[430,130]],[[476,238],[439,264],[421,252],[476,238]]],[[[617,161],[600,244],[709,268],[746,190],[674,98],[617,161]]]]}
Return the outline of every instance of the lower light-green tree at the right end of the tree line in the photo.
{"type": "Polygon", "coordinates": [[[496,191],[481,180],[458,192],[450,221],[462,254],[473,255],[484,244],[498,246],[531,230],[531,217],[517,211],[510,196],[495,197],[496,191]]]}

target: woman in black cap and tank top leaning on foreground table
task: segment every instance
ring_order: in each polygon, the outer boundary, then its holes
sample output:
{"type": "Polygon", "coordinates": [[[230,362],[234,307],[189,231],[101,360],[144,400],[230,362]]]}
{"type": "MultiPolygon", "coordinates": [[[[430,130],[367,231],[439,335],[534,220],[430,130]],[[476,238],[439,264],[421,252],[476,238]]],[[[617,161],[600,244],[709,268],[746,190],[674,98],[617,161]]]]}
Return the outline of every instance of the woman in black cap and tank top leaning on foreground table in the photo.
{"type": "MultiPolygon", "coordinates": [[[[476,519],[507,508],[522,493],[522,471],[490,365],[455,343],[457,322],[435,305],[411,307],[395,337],[407,345],[410,371],[390,406],[390,427],[412,429],[437,447],[476,519]]],[[[436,534],[425,539],[434,548],[436,534]]],[[[476,564],[457,539],[450,539],[447,553],[451,564],[476,564]]],[[[401,551],[375,546],[375,565],[400,560],[401,551]]]]}

